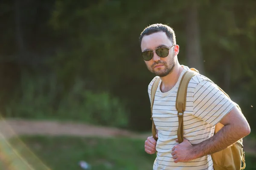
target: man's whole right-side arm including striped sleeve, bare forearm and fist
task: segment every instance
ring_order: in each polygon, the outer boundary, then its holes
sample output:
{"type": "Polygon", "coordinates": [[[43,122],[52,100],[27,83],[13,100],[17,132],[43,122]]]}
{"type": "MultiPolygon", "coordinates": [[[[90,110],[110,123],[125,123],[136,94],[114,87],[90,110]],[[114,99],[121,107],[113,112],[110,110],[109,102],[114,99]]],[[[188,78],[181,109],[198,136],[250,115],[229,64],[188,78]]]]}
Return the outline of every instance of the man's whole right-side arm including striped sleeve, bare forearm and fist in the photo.
{"type": "Polygon", "coordinates": [[[241,111],[211,82],[201,82],[196,86],[193,104],[195,116],[211,126],[220,122],[224,127],[211,138],[193,146],[184,138],[172,148],[175,162],[191,161],[218,152],[250,134],[249,124],[241,111]]]}

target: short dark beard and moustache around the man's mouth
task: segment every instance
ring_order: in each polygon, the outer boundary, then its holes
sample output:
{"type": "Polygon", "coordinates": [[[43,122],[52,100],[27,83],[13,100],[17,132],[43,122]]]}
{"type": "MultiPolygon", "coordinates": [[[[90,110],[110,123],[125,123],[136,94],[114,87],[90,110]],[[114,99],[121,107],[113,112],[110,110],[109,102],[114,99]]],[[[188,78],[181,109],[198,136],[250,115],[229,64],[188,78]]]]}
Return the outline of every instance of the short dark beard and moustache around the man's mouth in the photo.
{"type": "Polygon", "coordinates": [[[165,77],[166,75],[169,75],[170,72],[172,72],[174,66],[175,66],[175,58],[173,58],[173,60],[170,60],[168,63],[159,60],[154,64],[152,64],[151,67],[148,66],[148,70],[154,73],[156,76],[165,77]],[[157,64],[163,64],[162,66],[163,68],[154,69],[154,66],[156,66],[157,64]]]}

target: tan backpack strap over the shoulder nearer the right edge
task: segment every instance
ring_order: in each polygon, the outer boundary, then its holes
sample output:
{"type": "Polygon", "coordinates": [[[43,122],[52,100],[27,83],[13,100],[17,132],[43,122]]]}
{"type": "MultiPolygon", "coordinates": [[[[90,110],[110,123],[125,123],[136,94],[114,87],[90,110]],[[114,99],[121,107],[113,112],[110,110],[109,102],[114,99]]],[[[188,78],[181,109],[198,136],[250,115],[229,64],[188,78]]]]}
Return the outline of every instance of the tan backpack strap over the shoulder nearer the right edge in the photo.
{"type": "Polygon", "coordinates": [[[177,92],[177,97],[176,97],[176,109],[178,111],[178,119],[179,119],[179,126],[178,126],[178,131],[177,131],[177,136],[178,136],[178,142],[181,143],[183,142],[183,113],[186,108],[186,93],[187,93],[187,87],[189,84],[190,79],[197,74],[197,70],[188,70],[184,73],[180,80],[180,85],[178,88],[177,92]]]}

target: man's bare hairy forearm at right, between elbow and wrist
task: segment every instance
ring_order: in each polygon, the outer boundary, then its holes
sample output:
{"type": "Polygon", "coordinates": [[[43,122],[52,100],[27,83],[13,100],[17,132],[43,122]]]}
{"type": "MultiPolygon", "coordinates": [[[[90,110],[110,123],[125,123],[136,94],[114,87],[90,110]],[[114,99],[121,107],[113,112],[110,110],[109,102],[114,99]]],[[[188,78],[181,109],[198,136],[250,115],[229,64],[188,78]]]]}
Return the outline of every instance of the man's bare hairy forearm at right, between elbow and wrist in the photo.
{"type": "Polygon", "coordinates": [[[226,125],[221,128],[215,135],[211,138],[202,141],[199,144],[195,144],[192,147],[192,153],[195,158],[200,158],[202,156],[218,152],[220,150],[229,147],[236,141],[244,137],[243,131],[239,130],[239,127],[234,127],[234,125],[226,125]]]}

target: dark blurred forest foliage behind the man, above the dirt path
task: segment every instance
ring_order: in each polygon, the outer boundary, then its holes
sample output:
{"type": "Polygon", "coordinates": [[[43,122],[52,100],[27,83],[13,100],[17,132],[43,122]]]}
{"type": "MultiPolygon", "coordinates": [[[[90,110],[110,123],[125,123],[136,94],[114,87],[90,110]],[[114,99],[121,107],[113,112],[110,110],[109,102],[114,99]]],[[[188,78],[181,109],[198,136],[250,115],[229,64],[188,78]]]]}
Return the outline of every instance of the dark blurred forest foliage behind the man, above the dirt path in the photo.
{"type": "MultiPolygon", "coordinates": [[[[87,106],[81,100],[91,98],[90,92],[93,92],[103,98],[101,100],[108,101],[106,96],[111,94],[111,103],[114,100],[122,101],[125,108],[129,108],[130,114],[123,115],[128,116],[130,129],[150,129],[147,87],[154,75],[148,72],[140,57],[138,37],[149,24],[168,24],[176,32],[177,44],[180,46],[179,61],[186,65],[185,14],[192,5],[190,0],[157,3],[152,0],[147,3],[135,0],[77,0],[76,3],[71,0],[26,1],[20,8],[35,6],[36,10],[20,10],[20,22],[23,23],[20,32],[23,34],[18,34],[17,27],[12,24],[15,20],[10,22],[10,18],[17,17],[13,13],[13,5],[12,1],[6,1],[1,7],[5,18],[3,24],[6,25],[1,29],[6,34],[3,34],[1,41],[4,46],[1,47],[3,66],[0,69],[9,75],[0,74],[2,111],[9,110],[10,116],[31,117],[32,114],[28,112],[32,112],[32,108],[26,107],[24,104],[29,102],[23,103],[23,100],[35,100],[32,103],[35,104],[33,109],[37,110],[37,117],[50,115],[51,118],[61,118],[63,110],[68,110],[66,118],[89,120],[89,113],[84,114],[87,106]],[[24,46],[33,55],[19,54],[17,35],[23,37],[24,46]],[[6,55],[17,57],[7,58],[6,55]],[[31,85],[29,77],[23,80],[26,70],[40,72],[29,74],[40,76],[38,80],[54,75],[48,81],[50,84],[56,82],[58,86],[52,91],[46,89],[37,99],[26,92],[27,97],[23,95],[20,101],[18,97],[14,100],[10,96],[14,96],[14,92],[20,94],[23,90],[19,87],[20,82],[33,86],[31,89],[40,89],[39,84],[31,85]],[[80,92],[81,100],[73,100],[76,97],[71,97],[70,93],[75,95],[74,89],[81,82],[86,84],[86,90],[83,89],[86,92],[80,92]],[[15,103],[23,103],[23,106],[15,108],[15,103]],[[48,105],[50,107],[47,108],[48,105]],[[71,116],[71,112],[76,113],[76,116],[71,116]]],[[[198,0],[197,6],[205,75],[241,105],[244,115],[255,128],[255,107],[250,106],[256,105],[256,1],[198,0]]],[[[96,102],[96,99],[92,97],[90,101],[96,102]]],[[[102,107],[92,112],[101,112],[102,109],[119,112],[113,110],[114,106],[116,104],[107,108],[102,104],[102,107]]],[[[105,124],[103,120],[98,122],[105,124]]]]}

